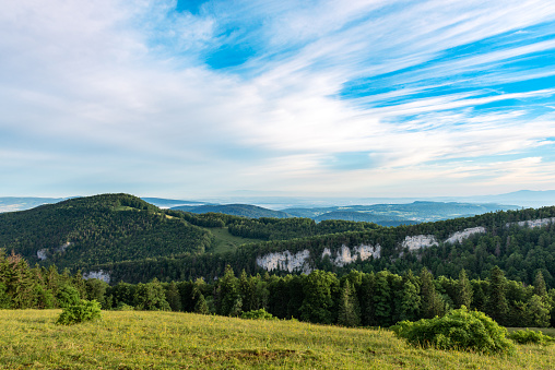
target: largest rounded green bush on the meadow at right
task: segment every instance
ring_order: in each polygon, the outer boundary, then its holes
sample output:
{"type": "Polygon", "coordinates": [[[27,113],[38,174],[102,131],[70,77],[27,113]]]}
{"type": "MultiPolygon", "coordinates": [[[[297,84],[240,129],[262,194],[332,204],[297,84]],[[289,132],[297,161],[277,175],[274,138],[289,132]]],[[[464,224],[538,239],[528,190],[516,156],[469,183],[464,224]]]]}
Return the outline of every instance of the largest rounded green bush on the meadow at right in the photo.
{"type": "Polygon", "coordinates": [[[402,321],[392,330],[413,346],[479,353],[515,353],[515,345],[505,337],[505,327],[499,326],[485,313],[469,311],[464,306],[450,310],[442,318],[402,321]]]}

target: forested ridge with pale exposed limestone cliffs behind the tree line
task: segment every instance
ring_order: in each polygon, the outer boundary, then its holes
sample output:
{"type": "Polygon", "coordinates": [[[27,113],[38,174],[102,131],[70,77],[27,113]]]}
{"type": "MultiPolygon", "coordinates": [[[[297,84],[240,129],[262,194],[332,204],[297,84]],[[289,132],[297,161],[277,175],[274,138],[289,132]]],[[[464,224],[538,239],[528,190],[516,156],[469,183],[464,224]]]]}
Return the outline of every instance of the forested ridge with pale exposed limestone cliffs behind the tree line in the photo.
{"type": "MultiPolygon", "coordinates": [[[[224,216],[212,215],[213,218],[224,216]]],[[[222,276],[227,264],[249,274],[283,275],[314,270],[343,275],[353,268],[402,274],[426,267],[436,276],[453,278],[462,268],[472,278],[484,278],[491,268],[499,266],[508,278],[524,284],[532,284],[540,271],[547,285],[555,286],[555,206],[399,227],[310,222],[307,218],[244,219],[228,224],[229,231],[269,241],[246,244],[229,253],[111,263],[94,270],[103,270],[116,281],[146,282],[153,277],[212,279],[222,276]],[[295,219],[298,225],[293,227],[291,220],[295,219]],[[294,238],[303,232],[306,237],[294,238]],[[287,240],[279,240],[287,236],[287,240]]]]}

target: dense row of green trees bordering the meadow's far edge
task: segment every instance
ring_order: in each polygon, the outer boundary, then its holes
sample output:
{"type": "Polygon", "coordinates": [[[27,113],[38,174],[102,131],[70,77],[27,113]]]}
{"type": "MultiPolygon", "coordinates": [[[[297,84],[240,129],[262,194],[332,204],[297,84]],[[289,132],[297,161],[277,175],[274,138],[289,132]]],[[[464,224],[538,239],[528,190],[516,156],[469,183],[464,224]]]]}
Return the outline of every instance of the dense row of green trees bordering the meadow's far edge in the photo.
{"type": "Polygon", "coordinates": [[[221,315],[264,309],[276,318],[345,326],[389,326],[402,320],[441,317],[465,306],[486,312],[507,326],[555,324],[555,289],[543,274],[534,285],[509,281],[499,267],[485,279],[437,278],[426,268],[401,275],[351,271],[339,277],[316,270],[308,275],[248,275],[231,266],[216,281],[118,283],[61,274],[56,266],[29,267],[20,255],[0,252],[0,308],[56,308],[79,299],[97,300],[103,309],[173,310],[221,315]]]}

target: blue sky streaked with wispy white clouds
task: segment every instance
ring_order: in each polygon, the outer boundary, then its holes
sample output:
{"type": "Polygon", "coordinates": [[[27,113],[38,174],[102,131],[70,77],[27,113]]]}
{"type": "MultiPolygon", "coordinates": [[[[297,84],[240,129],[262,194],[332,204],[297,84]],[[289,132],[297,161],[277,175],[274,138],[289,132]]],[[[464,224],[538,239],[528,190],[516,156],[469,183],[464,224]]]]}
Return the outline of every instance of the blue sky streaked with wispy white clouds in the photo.
{"type": "Polygon", "coordinates": [[[555,189],[555,1],[0,7],[0,196],[555,189]]]}

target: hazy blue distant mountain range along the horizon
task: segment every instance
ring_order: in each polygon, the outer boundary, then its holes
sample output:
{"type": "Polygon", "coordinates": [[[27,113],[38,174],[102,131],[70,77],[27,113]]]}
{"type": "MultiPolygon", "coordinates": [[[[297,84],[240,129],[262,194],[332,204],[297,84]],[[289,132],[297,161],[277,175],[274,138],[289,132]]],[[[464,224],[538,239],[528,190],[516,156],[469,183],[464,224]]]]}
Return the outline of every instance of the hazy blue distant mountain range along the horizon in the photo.
{"type": "MultiPolygon", "coordinates": [[[[42,204],[57,203],[61,198],[0,198],[0,213],[24,211],[42,204]]],[[[240,198],[244,204],[219,204],[222,200],[175,200],[142,198],[161,208],[180,210],[190,213],[224,213],[249,218],[306,217],[317,222],[344,219],[371,222],[383,226],[434,222],[465,217],[487,212],[539,207],[555,204],[555,190],[517,192],[477,196],[415,198],[365,198],[365,199],[296,199],[283,196],[240,198]]],[[[235,199],[229,199],[235,200],[235,199]]],[[[225,200],[224,200],[225,201],[225,200]]]]}

